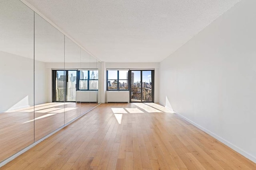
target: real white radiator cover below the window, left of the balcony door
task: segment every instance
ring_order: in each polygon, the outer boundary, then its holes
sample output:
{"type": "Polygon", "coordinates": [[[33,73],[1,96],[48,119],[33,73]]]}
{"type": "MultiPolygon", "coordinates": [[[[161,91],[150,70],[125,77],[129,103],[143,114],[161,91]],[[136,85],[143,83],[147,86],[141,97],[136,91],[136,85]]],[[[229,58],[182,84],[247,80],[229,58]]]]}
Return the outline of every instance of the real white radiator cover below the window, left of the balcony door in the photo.
{"type": "Polygon", "coordinates": [[[107,102],[130,102],[129,91],[107,91],[107,102]]]}

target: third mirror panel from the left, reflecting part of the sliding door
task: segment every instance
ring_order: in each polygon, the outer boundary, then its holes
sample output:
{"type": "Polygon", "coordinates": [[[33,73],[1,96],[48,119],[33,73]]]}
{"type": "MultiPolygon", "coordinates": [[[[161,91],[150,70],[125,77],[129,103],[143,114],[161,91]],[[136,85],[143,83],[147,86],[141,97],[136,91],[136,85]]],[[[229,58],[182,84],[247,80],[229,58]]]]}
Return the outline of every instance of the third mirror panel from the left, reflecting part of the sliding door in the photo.
{"type": "Polygon", "coordinates": [[[65,36],[65,124],[80,115],[80,96],[76,98],[80,53],[80,47],[65,36]]]}

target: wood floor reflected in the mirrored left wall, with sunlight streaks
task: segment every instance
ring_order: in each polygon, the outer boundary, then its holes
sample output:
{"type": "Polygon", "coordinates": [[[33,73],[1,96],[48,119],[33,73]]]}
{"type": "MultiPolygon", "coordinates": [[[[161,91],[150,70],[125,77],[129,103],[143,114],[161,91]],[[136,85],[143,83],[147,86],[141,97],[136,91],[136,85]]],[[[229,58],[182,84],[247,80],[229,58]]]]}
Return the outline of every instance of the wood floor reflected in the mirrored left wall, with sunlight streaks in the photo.
{"type": "Polygon", "coordinates": [[[54,102],[0,113],[0,162],[97,105],[54,102]]]}

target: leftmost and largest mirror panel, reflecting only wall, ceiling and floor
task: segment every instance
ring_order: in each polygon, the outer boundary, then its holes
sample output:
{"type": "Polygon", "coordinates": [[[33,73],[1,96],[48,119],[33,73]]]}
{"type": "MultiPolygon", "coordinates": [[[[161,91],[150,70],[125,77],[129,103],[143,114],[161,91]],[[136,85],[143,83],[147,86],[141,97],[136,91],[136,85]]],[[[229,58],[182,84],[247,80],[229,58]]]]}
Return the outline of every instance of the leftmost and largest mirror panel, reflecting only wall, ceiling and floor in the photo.
{"type": "Polygon", "coordinates": [[[0,1],[0,162],[34,142],[34,12],[0,1]]]}

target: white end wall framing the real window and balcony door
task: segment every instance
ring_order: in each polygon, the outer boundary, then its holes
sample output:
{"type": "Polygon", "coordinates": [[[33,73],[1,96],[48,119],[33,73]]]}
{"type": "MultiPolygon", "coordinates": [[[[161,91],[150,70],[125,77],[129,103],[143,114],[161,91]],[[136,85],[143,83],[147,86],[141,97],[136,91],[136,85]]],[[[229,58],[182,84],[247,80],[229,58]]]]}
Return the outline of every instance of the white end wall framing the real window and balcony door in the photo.
{"type": "MultiPolygon", "coordinates": [[[[154,69],[155,70],[154,102],[155,103],[159,102],[159,63],[105,63],[104,82],[106,82],[106,69],[107,68],[154,69]]],[[[104,87],[103,93],[106,95],[106,86],[104,87]]],[[[105,98],[105,100],[106,100],[106,98],[105,98]]]]}

